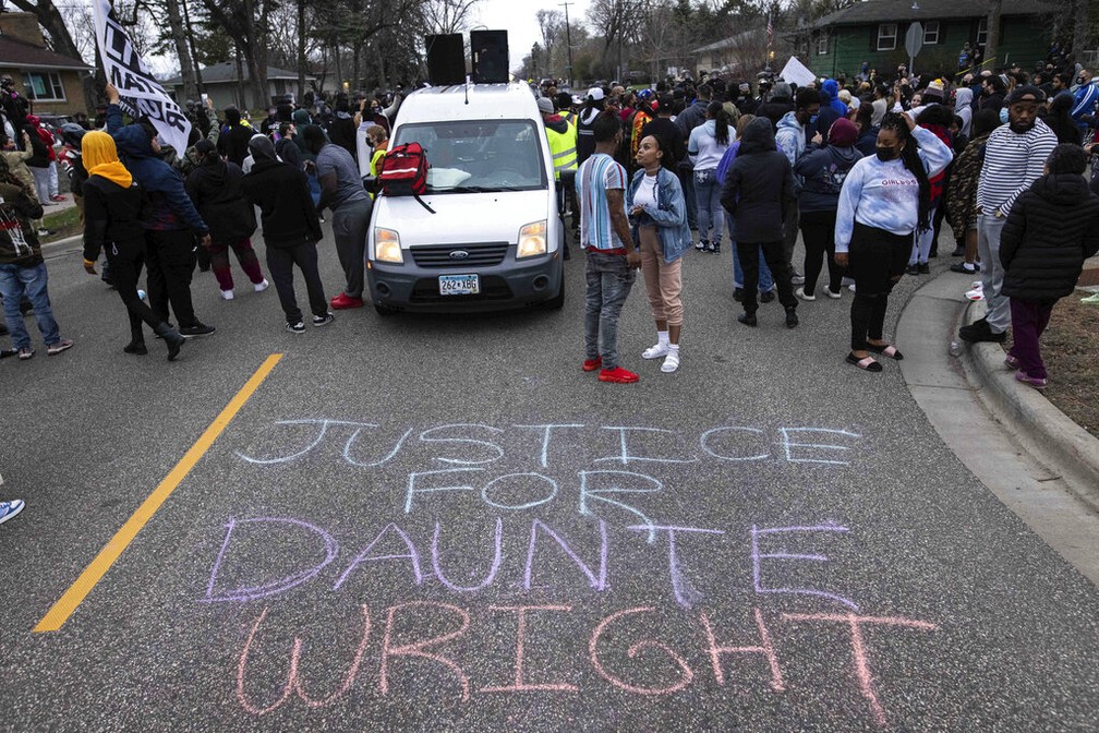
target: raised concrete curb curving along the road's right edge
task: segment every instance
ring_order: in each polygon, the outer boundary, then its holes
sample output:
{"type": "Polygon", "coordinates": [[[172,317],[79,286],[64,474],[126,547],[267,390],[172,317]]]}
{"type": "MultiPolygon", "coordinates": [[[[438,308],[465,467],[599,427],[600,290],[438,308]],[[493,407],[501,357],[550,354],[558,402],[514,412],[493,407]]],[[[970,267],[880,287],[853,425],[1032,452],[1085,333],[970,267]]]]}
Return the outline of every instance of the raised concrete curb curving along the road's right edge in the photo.
{"type": "MultiPolygon", "coordinates": [[[[972,303],[962,312],[959,325],[983,318],[986,310],[984,301],[972,303]]],[[[993,414],[1003,418],[1006,424],[1018,427],[1013,437],[1047,468],[1075,478],[1069,481],[1077,487],[1073,493],[1099,511],[1099,438],[1073,422],[1037,390],[1015,381],[1014,371],[1003,365],[999,344],[963,346],[961,360],[981,401],[993,414]]]]}

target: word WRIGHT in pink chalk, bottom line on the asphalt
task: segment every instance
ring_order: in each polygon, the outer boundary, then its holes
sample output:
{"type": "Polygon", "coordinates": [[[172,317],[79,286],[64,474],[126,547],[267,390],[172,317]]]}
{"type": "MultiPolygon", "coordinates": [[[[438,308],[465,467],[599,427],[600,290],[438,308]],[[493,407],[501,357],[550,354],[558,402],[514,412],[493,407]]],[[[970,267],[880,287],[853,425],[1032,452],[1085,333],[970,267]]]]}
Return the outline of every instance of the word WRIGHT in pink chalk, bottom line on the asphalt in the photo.
{"type": "MultiPolygon", "coordinates": [[[[848,647],[847,659],[835,655],[825,663],[830,665],[824,673],[826,681],[841,690],[857,686],[866,714],[878,726],[886,726],[880,690],[887,686],[872,671],[870,640],[889,634],[893,636],[889,646],[897,647],[909,643],[899,632],[937,630],[934,623],[901,617],[847,612],[767,618],[754,608],[750,619],[740,624],[729,623],[728,612],[700,610],[684,617],[679,629],[664,632],[673,636],[669,638],[654,636],[652,630],[667,629],[667,623],[657,609],[644,606],[610,613],[589,633],[576,634],[568,623],[573,613],[568,604],[489,606],[475,617],[451,603],[412,601],[390,606],[375,620],[364,603],[360,624],[349,626],[346,673],[338,684],[323,689],[317,681],[306,681],[311,665],[303,640],[295,636],[287,656],[286,640],[293,628],[268,620],[268,612],[264,608],[251,623],[237,659],[236,699],[255,715],[278,710],[293,698],[308,708],[325,708],[347,696],[356,684],[359,696],[407,698],[415,696],[419,686],[424,695],[449,693],[469,702],[493,695],[585,695],[592,690],[591,682],[646,697],[677,695],[693,686],[701,688],[693,692],[697,699],[706,688],[740,682],[763,688],[777,699],[787,691],[784,667],[802,662],[798,655],[806,648],[802,635],[824,631],[833,638],[834,630],[841,629],[846,632],[841,643],[848,647]],[[500,617],[514,619],[514,652],[493,658],[485,651],[496,646],[492,629],[500,617]],[[376,630],[376,625],[380,628],[376,630]],[[479,637],[482,629],[487,638],[479,637]],[[563,629],[569,630],[564,643],[563,629]],[[273,636],[279,641],[269,641],[273,636]],[[547,637],[555,638],[551,643],[547,637]],[[371,664],[369,678],[360,679],[367,677],[363,670],[366,659],[371,664]],[[257,675],[257,667],[275,670],[276,678],[282,674],[278,670],[286,669],[286,681],[274,689],[252,681],[249,676],[269,679],[269,675],[257,675]]],[[[812,655],[804,664],[820,664],[819,659],[812,655]]],[[[803,671],[799,676],[812,677],[803,671]]]]}

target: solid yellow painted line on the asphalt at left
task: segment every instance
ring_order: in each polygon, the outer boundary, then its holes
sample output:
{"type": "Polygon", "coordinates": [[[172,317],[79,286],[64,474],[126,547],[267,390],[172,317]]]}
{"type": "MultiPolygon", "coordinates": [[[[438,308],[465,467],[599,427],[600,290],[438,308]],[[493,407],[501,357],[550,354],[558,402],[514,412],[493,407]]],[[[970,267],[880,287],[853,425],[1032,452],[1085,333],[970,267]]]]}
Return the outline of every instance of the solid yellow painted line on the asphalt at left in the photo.
{"type": "Polygon", "coordinates": [[[187,474],[190,473],[191,468],[206,455],[206,452],[210,449],[213,442],[218,440],[218,436],[229,426],[229,423],[233,420],[244,403],[248,401],[248,398],[256,391],[263,380],[270,374],[275,365],[279,363],[282,358],[281,354],[271,354],[267,357],[267,360],[256,369],[256,373],[252,375],[252,378],[241,388],[241,391],[230,400],[225,409],[221,411],[210,426],[206,429],[202,436],[191,446],[191,449],[176,464],[176,467],[171,469],[160,485],[156,487],[153,491],[142,502],[142,506],[137,508],[137,511],[126,520],[126,523],[122,525],[111,541],[99,551],[96,555],[96,559],[84,569],[80,577],[76,579],[69,589],[65,591],[65,595],[54,603],[53,608],[42,618],[42,621],[34,628],[35,633],[46,632],[46,631],[58,631],[68,618],[73,615],[76,608],[80,602],[91,592],[91,589],[96,587],[96,584],[107,575],[107,571],[111,569],[114,565],[114,560],[119,558],[122,552],[133,542],[133,538],[137,536],[141,529],[145,526],[156,510],[160,508],[171,492],[176,490],[184,479],[187,478],[187,474]]]}

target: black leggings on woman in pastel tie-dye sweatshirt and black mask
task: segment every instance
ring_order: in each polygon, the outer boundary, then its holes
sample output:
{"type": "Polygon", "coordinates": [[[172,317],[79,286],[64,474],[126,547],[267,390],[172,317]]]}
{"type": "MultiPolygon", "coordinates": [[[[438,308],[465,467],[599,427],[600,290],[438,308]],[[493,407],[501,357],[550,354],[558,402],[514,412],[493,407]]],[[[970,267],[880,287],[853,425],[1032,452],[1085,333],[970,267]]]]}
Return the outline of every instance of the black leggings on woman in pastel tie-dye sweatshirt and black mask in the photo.
{"type": "Polygon", "coordinates": [[[867,340],[881,340],[889,293],[904,274],[911,254],[911,232],[898,235],[855,222],[848,253],[855,278],[855,299],[851,303],[851,351],[866,351],[867,340]]]}

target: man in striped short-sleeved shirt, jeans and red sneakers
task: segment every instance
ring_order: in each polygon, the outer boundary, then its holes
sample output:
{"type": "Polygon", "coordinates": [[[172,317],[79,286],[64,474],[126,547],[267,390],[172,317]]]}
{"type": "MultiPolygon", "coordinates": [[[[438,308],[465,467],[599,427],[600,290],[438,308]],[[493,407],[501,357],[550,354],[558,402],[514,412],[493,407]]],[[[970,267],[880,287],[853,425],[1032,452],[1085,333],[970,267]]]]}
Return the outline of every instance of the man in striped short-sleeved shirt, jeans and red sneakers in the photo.
{"type": "Polygon", "coordinates": [[[618,321],[641,267],[625,213],[625,169],[614,160],[622,141],[622,123],[612,111],[592,123],[595,154],[576,171],[580,204],[580,247],[587,252],[585,277],[584,370],[599,369],[599,380],[637,381],[637,375],[618,363],[618,321]]]}

